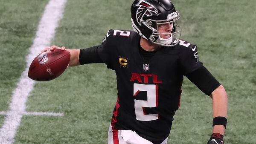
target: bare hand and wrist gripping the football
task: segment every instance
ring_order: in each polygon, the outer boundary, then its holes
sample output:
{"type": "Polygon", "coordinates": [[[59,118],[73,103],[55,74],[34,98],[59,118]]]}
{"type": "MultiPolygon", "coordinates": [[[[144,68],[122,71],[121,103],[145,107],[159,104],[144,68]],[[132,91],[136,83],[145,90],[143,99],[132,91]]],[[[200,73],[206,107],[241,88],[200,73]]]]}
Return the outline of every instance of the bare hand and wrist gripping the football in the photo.
{"type": "Polygon", "coordinates": [[[80,49],[66,49],[64,46],[62,47],[58,47],[58,46],[51,46],[51,47],[47,47],[44,49],[44,52],[46,52],[47,50],[53,50],[53,49],[61,49],[61,50],[67,50],[70,52],[70,62],[69,62],[69,66],[78,66],[80,65],[79,63],[79,53],[80,53],[80,49]]]}

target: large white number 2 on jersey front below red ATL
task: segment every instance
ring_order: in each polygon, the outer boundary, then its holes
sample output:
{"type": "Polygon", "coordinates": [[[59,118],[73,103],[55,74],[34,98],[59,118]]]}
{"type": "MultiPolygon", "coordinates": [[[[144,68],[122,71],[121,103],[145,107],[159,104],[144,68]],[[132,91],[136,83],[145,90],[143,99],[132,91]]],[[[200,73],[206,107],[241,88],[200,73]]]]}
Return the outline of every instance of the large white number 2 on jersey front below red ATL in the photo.
{"type": "Polygon", "coordinates": [[[136,119],[139,121],[153,121],[158,119],[158,114],[145,114],[144,107],[158,106],[158,85],[155,84],[134,84],[134,96],[140,92],[147,92],[147,101],[134,100],[136,119]]]}

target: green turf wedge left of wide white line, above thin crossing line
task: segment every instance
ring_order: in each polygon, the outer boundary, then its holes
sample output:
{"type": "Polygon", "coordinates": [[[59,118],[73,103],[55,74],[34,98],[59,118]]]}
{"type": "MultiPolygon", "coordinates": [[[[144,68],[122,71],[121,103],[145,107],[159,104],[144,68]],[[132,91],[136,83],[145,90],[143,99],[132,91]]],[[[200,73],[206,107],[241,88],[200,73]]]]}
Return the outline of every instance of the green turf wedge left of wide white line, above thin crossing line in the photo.
{"type": "Polygon", "coordinates": [[[0,0],[0,110],[6,110],[46,0],[0,0]]]}

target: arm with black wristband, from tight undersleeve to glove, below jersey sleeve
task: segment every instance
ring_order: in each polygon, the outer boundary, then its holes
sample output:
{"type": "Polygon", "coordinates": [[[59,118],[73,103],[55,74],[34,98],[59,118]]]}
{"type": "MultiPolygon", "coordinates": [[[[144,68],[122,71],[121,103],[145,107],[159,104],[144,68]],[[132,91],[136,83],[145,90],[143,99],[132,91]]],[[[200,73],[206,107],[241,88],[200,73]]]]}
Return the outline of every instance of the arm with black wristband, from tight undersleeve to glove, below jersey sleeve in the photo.
{"type": "Polygon", "coordinates": [[[202,92],[212,98],[212,135],[207,144],[223,144],[227,124],[227,93],[224,87],[204,67],[186,75],[202,92]],[[216,142],[215,142],[216,141],[216,142]]]}

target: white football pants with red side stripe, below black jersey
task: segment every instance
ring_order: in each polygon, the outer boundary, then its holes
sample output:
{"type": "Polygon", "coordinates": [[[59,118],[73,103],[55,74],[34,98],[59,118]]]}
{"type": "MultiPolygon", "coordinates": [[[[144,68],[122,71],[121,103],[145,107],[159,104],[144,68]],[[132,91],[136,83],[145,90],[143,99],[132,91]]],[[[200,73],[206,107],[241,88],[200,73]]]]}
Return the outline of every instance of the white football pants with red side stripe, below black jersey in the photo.
{"type": "MultiPolygon", "coordinates": [[[[161,143],[167,144],[168,137],[161,143]]],[[[153,144],[151,141],[140,137],[131,130],[113,130],[110,125],[108,130],[108,144],[153,144]]]]}

